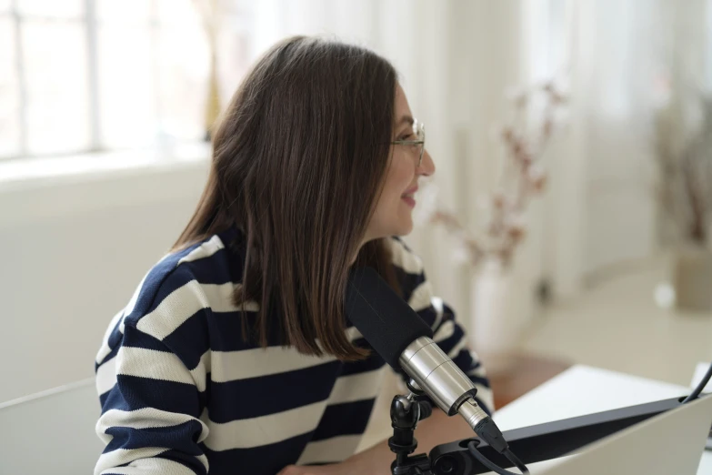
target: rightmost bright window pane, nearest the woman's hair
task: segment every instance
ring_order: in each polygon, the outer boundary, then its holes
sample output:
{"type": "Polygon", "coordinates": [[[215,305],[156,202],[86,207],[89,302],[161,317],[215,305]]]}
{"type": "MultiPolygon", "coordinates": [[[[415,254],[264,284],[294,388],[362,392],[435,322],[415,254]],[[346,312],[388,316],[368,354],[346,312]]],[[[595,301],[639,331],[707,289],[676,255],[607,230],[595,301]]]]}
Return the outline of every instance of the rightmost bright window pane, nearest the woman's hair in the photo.
{"type": "MultiPolygon", "coordinates": [[[[200,17],[189,0],[174,0],[158,29],[160,127],[178,139],[206,134],[209,51],[200,17]]],[[[167,12],[167,10],[166,10],[167,12]]]]}

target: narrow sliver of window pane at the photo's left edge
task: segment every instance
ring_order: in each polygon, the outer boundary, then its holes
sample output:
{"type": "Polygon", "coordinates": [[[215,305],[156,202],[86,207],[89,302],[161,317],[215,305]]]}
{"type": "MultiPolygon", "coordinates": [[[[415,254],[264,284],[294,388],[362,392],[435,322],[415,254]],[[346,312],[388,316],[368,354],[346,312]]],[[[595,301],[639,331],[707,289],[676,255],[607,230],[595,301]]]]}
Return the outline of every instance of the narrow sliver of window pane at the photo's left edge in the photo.
{"type": "Polygon", "coordinates": [[[0,17],[0,158],[20,153],[19,87],[15,71],[15,25],[0,17]]]}

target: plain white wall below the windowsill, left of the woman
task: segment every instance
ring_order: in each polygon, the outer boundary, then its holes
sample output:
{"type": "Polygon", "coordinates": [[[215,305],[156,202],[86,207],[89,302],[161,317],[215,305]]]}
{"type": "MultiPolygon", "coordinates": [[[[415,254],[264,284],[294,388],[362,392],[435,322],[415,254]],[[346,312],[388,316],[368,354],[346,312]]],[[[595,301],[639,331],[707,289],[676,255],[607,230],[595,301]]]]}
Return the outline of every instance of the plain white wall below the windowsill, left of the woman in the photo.
{"type": "Polygon", "coordinates": [[[0,402],[94,375],[109,320],[185,226],[206,163],[0,180],[0,402]]]}

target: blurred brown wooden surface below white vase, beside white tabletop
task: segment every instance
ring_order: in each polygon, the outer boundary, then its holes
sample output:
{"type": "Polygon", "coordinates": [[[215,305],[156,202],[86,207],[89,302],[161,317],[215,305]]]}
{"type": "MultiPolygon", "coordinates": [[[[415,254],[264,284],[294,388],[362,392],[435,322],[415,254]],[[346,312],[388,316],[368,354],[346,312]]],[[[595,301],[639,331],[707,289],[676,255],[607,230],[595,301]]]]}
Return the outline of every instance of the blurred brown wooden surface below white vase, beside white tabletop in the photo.
{"type": "Polygon", "coordinates": [[[487,375],[495,394],[495,409],[506,406],[547,379],[554,378],[571,367],[571,364],[563,360],[521,354],[507,367],[510,369],[487,375]]]}

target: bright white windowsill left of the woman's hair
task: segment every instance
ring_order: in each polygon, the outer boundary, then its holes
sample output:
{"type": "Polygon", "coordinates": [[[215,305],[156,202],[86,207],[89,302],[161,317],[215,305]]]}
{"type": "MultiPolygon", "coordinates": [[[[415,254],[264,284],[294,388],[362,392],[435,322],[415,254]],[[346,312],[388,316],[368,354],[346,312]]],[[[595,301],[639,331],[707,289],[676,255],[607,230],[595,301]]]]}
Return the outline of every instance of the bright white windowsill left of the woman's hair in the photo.
{"type": "Polygon", "coordinates": [[[186,144],[168,153],[129,150],[0,163],[0,227],[110,212],[117,207],[193,203],[211,150],[186,144]]]}

